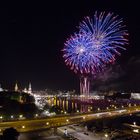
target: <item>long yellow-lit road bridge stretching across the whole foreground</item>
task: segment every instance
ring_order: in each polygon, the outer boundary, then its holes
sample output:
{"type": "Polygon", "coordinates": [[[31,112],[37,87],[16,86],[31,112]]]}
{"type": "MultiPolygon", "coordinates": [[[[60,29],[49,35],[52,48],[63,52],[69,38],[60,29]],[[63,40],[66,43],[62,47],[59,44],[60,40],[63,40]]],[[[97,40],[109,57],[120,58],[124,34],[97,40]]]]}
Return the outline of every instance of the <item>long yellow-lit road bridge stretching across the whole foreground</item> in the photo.
{"type": "Polygon", "coordinates": [[[119,109],[111,109],[98,111],[95,113],[85,113],[85,114],[69,114],[69,115],[60,115],[49,118],[38,118],[38,119],[28,119],[28,120],[19,120],[19,121],[9,121],[9,122],[0,122],[0,131],[9,127],[14,127],[19,132],[29,132],[35,130],[42,130],[48,128],[57,129],[57,127],[84,123],[97,119],[113,118],[125,115],[131,115],[134,113],[140,112],[140,106],[131,106],[119,109]]]}

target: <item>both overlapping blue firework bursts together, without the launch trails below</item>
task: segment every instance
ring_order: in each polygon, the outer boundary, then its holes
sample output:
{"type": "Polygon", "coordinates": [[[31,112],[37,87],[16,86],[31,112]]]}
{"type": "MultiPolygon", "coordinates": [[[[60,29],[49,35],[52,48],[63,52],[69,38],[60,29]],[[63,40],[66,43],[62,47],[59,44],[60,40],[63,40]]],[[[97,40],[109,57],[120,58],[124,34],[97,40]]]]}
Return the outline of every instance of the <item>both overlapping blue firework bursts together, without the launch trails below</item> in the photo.
{"type": "Polygon", "coordinates": [[[86,17],[80,23],[79,30],[66,41],[63,49],[65,62],[74,72],[93,74],[102,70],[128,44],[123,21],[113,13],[96,12],[93,18],[86,17]]]}

